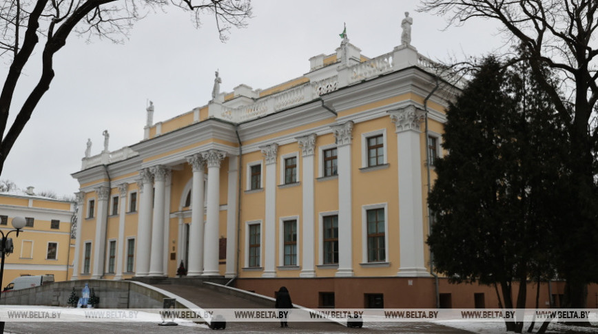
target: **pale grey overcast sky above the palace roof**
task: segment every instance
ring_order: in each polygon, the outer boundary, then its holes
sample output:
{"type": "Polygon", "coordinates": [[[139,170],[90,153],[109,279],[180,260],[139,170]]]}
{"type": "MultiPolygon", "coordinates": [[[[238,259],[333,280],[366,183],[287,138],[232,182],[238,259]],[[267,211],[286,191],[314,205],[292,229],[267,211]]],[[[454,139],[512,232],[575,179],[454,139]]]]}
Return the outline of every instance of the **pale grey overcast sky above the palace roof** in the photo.
{"type": "MultiPolygon", "coordinates": [[[[221,43],[211,17],[199,30],[189,14],[171,6],[150,13],[123,44],[71,36],[56,54],[56,76],[6,160],[1,179],[21,188],[78,191],[70,174],[81,169],[87,138],[92,155],[110,132],[110,150],[143,139],[145,107],[154,101],[154,122],[206,105],[214,71],[221,92],[245,83],[265,89],[309,71],[309,58],[331,54],[347,34],[362,54],[375,57],[400,44],[404,12],[413,17],[411,44],[431,59],[487,54],[502,45],[494,25],[477,21],[449,28],[443,17],[415,12],[418,0],[254,0],[254,18],[245,29],[231,29],[221,43]]],[[[39,53],[39,52],[38,52],[39,53]]],[[[6,60],[0,67],[2,82],[6,60]]],[[[37,61],[39,63],[39,61],[37,61]]],[[[39,78],[38,64],[25,68],[12,109],[39,78]]],[[[14,117],[14,115],[13,115],[14,117]]]]}

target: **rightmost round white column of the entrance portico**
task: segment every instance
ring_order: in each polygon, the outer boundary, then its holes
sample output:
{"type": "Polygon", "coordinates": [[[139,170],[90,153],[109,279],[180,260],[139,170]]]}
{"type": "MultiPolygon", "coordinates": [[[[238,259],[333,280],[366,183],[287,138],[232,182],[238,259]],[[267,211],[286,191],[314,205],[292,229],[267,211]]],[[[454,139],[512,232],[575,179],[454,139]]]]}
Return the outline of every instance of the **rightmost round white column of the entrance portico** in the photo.
{"type": "Polygon", "coordinates": [[[218,276],[218,232],[220,215],[220,163],[225,152],[210,149],[202,154],[207,162],[207,212],[203,249],[203,275],[218,276]]]}

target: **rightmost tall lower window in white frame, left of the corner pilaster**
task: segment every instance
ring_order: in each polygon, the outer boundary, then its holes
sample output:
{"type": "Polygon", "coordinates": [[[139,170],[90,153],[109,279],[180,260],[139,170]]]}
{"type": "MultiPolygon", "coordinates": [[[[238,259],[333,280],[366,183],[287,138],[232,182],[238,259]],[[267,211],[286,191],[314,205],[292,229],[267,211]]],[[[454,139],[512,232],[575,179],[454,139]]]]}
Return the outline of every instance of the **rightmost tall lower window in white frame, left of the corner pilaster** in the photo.
{"type": "Polygon", "coordinates": [[[388,207],[386,203],[362,207],[363,259],[367,263],[388,260],[388,207]]]}

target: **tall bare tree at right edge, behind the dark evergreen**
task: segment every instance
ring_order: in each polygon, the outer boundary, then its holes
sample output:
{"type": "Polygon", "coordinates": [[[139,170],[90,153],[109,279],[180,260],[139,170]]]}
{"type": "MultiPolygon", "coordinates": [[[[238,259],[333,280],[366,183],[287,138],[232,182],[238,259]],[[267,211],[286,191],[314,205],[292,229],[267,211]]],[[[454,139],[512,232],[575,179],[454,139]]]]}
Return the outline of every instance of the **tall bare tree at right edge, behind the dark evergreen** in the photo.
{"type": "Polygon", "coordinates": [[[559,275],[566,278],[567,306],[586,307],[587,283],[598,282],[595,251],[597,184],[595,174],[598,126],[598,1],[596,0],[422,0],[420,10],[446,15],[449,25],[471,19],[490,19],[523,54],[532,75],[550,96],[570,136],[567,180],[571,187],[569,216],[557,226],[564,247],[559,247],[559,275]],[[568,94],[542,73],[547,66],[568,83],[568,94]],[[586,257],[588,261],[579,261],[586,257]],[[594,264],[592,264],[592,262],[594,264]],[[591,269],[591,270],[586,270],[591,269]]]}

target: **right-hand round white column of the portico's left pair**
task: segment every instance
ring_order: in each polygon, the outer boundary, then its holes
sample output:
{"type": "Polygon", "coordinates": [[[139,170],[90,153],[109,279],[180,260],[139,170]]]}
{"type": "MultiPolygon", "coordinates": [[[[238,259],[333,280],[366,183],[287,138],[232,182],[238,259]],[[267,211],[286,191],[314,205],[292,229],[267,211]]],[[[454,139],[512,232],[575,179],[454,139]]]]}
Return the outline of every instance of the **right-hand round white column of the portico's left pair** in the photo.
{"type": "Polygon", "coordinates": [[[152,251],[149,256],[149,276],[162,276],[164,251],[164,185],[166,168],[162,165],[150,169],[154,174],[154,216],[152,218],[152,251]]]}

